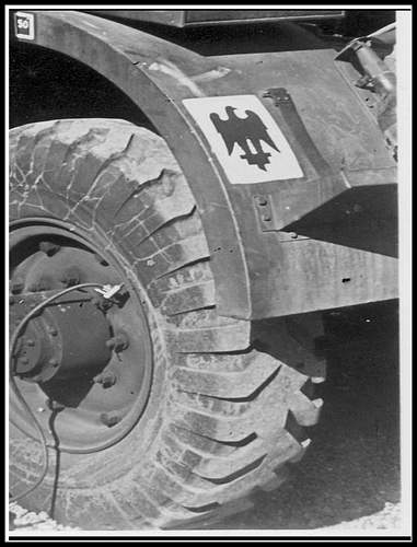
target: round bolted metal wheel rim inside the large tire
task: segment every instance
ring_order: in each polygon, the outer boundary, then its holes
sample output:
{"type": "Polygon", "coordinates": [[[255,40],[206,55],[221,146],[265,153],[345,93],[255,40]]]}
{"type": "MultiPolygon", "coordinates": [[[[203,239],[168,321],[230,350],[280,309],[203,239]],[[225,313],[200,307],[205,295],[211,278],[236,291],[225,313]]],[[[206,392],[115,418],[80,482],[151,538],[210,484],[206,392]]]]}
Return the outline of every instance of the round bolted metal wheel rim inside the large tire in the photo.
{"type": "MultiPolygon", "coordinates": [[[[59,439],[65,452],[115,444],[141,418],[150,392],[152,344],[140,289],[125,274],[120,257],[104,247],[104,241],[94,245],[62,222],[36,219],[11,226],[11,331],[39,302],[65,288],[121,286],[111,299],[92,288],[57,299],[18,338],[15,383],[49,435],[48,444],[59,439]]],[[[21,431],[37,438],[13,393],[10,416],[21,431]]]]}

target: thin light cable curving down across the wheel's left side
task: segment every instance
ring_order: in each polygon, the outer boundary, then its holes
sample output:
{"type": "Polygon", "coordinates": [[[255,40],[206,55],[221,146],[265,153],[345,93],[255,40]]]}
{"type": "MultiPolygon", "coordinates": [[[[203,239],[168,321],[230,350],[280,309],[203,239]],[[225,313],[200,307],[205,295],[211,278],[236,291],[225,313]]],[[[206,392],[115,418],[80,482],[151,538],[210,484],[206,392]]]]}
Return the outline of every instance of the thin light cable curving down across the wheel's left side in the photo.
{"type": "Polygon", "coordinates": [[[20,388],[19,388],[19,386],[16,384],[16,381],[14,379],[14,360],[13,360],[13,354],[14,354],[14,348],[16,346],[20,331],[22,330],[22,328],[26,325],[26,323],[34,315],[36,315],[45,306],[47,306],[48,304],[50,304],[51,302],[54,302],[54,300],[59,299],[60,296],[63,296],[63,294],[67,294],[68,292],[77,291],[79,289],[85,289],[85,288],[89,288],[89,287],[90,288],[93,288],[93,287],[104,288],[103,283],[80,283],[80,284],[74,284],[73,287],[69,287],[67,289],[63,289],[62,291],[59,291],[56,294],[53,294],[51,296],[49,296],[48,299],[46,299],[44,302],[40,302],[39,304],[37,304],[37,306],[35,306],[33,310],[31,310],[23,317],[23,319],[19,323],[19,325],[14,329],[13,335],[12,335],[12,337],[10,339],[10,350],[9,350],[9,381],[10,381],[10,384],[12,386],[13,393],[16,396],[19,403],[21,404],[21,406],[25,410],[26,415],[31,418],[31,420],[33,421],[33,423],[35,426],[35,429],[37,431],[38,439],[39,439],[39,442],[40,442],[40,446],[42,446],[44,465],[43,465],[42,473],[40,473],[39,477],[37,478],[36,482],[33,486],[31,486],[30,488],[27,488],[23,493],[20,493],[18,496],[13,496],[12,498],[10,498],[9,499],[9,503],[18,501],[21,498],[24,498],[28,493],[33,492],[40,485],[40,482],[44,480],[46,474],[48,473],[48,466],[49,466],[48,446],[47,446],[47,441],[46,441],[46,438],[45,438],[45,433],[44,433],[44,431],[42,429],[42,426],[39,424],[38,420],[36,419],[36,416],[34,415],[33,410],[31,409],[31,407],[26,403],[26,399],[22,395],[22,393],[21,393],[21,391],[20,391],[20,388]]]}

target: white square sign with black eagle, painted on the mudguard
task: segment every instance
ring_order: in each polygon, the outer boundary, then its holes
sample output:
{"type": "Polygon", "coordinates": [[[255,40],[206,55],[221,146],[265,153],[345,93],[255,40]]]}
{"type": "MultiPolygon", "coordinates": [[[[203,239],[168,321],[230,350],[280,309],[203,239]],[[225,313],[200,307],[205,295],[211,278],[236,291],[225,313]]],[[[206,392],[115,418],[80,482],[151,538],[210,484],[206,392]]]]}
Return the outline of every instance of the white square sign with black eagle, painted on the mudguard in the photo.
{"type": "Polygon", "coordinates": [[[231,184],[304,176],[285,135],[256,95],[186,98],[231,184]]]}

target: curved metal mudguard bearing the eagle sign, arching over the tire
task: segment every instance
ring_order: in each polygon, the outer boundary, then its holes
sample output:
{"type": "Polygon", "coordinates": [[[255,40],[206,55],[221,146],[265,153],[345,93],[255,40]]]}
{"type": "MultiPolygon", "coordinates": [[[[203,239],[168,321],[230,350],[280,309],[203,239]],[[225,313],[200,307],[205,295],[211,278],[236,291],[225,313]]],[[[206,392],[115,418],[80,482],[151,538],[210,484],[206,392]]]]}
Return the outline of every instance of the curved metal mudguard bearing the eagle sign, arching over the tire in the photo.
{"type": "Polygon", "coordinates": [[[397,296],[395,162],[332,48],[205,57],[90,13],[16,18],[30,20],[20,39],[94,68],[166,140],[202,217],[220,314],[397,296]]]}

